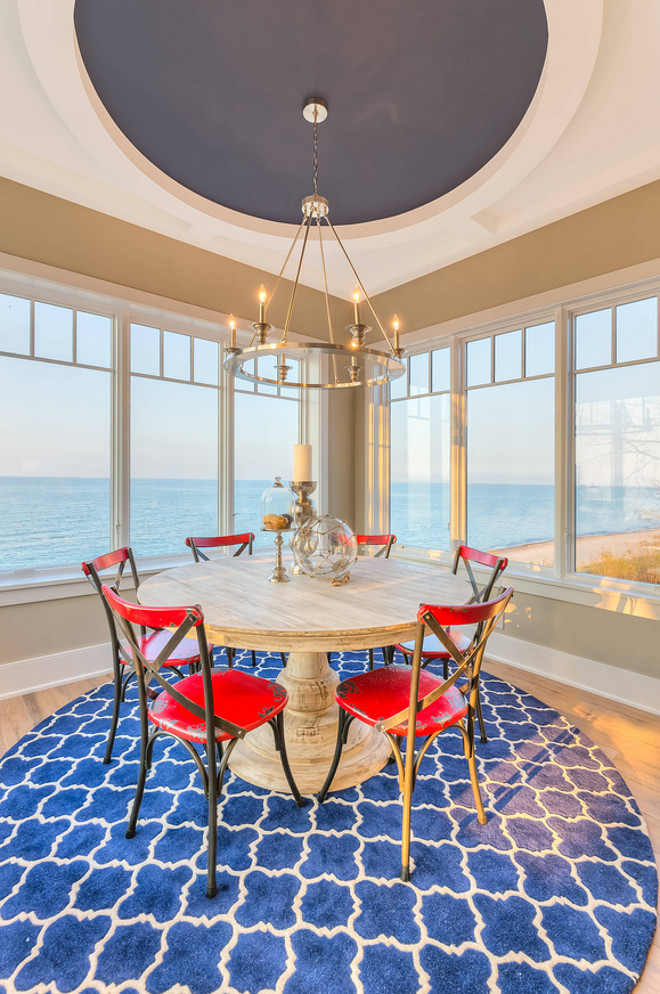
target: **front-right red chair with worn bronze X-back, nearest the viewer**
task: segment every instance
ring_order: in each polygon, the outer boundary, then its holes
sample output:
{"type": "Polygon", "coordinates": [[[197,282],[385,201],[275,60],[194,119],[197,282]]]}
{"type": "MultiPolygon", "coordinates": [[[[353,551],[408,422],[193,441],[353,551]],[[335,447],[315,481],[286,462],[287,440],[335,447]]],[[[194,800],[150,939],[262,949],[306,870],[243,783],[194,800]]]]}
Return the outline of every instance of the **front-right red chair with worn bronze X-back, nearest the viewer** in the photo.
{"type": "Polygon", "coordinates": [[[332,784],[351,723],[357,718],[384,732],[392,746],[403,795],[402,880],[410,880],[410,819],[419,764],[432,742],[447,728],[457,728],[463,736],[477,817],[481,825],[486,824],[474,751],[474,714],[486,642],[512,594],[513,587],[509,587],[494,600],[481,604],[460,607],[422,604],[417,612],[412,666],[382,666],[349,677],[335,689],[339,705],[337,745],[325,783],[317,795],[318,801],[325,800],[332,784]],[[458,648],[449,634],[450,627],[463,625],[476,625],[465,651],[458,648]],[[455,672],[447,679],[440,679],[422,668],[422,647],[427,629],[440,640],[456,663],[455,672]],[[459,680],[464,681],[463,686],[457,685],[459,680]],[[414,721],[410,720],[412,715],[414,721]],[[423,737],[423,741],[415,755],[415,740],[419,737],[423,737]],[[406,740],[405,760],[400,745],[403,738],[406,740]]]}

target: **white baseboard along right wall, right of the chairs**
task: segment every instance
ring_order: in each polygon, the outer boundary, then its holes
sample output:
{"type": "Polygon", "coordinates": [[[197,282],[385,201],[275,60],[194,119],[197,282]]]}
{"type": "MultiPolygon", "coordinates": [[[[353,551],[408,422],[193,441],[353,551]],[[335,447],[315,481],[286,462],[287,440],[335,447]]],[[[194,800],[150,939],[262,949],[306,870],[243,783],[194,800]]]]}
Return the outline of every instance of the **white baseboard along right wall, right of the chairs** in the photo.
{"type": "MultiPolygon", "coordinates": [[[[591,694],[660,714],[660,680],[493,632],[486,656],[591,694]]],[[[484,664],[488,669],[487,662],[484,664]]]]}

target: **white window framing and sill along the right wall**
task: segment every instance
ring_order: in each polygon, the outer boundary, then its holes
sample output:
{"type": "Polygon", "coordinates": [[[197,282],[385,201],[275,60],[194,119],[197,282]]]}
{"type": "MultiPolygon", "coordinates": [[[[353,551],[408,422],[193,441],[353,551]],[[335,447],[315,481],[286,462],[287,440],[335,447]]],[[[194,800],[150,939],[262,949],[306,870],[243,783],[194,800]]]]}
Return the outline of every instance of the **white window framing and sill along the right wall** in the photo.
{"type": "MultiPolygon", "coordinates": [[[[612,322],[615,321],[615,308],[624,304],[656,297],[658,302],[658,357],[660,358],[660,278],[656,275],[634,283],[612,285],[596,292],[585,293],[571,297],[569,288],[563,292],[558,290],[552,296],[554,300],[536,308],[516,310],[516,303],[499,308],[500,314],[495,319],[483,322],[472,322],[469,316],[460,322],[451,322],[451,330],[435,329],[436,334],[429,338],[428,330],[424,337],[417,340],[406,350],[406,358],[421,352],[432,353],[439,348],[449,347],[451,350],[451,397],[450,405],[450,435],[452,439],[452,459],[450,475],[451,492],[451,549],[449,553],[414,546],[397,544],[393,554],[411,560],[432,559],[448,565],[451,563],[456,547],[466,538],[466,508],[467,508],[467,393],[471,390],[482,389],[483,386],[496,386],[500,383],[514,382],[511,380],[496,380],[494,378],[495,349],[491,345],[491,381],[488,384],[467,386],[467,347],[471,341],[482,338],[491,339],[509,331],[521,330],[523,335],[522,355],[524,363],[524,332],[526,328],[538,324],[554,325],[555,349],[555,441],[554,441],[554,478],[555,478],[555,520],[554,520],[554,566],[542,567],[535,564],[512,563],[507,575],[516,580],[518,589],[549,597],[551,599],[571,601],[585,605],[603,607],[609,610],[626,610],[629,613],[660,619],[660,585],[641,581],[628,581],[616,577],[597,576],[578,572],[575,568],[576,535],[575,535],[575,383],[576,376],[586,370],[577,369],[574,356],[574,326],[575,319],[580,314],[590,313],[603,308],[612,308],[612,322]],[[502,314],[503,311],[507,313],[502,314]]],[[[517,302],[519,307],[520,301],[517,302]]],[[[614,346],[613,346],[614,349],[614,346]]],[[[616,351],[613,351],[616,359],[616,351]]],[[[623,360],[613,362],[617,366],[639,366],[649,362],[657,362],[658,358],[639,360],[623,360]]],[[[600,367],[593,367],[598,369],[600,367]]],[[[610,368],[608,365],[604,368],[610,368]]],[[[592,367],[588,367],[589,370],[592,367]]],[[[407,375],[407,374],[406,374],[407,375]]],[[[541,379],[550,374],[525,375],[524,365],[521,376],[515,380],[541,379]]],[[[389,394],[389,391],[388,391],[389,394]]],[[[389,405],[405,403],[406,398],[396,398],[385,402],[389,405]]],[[[389,432],[389,428],[388,428],[389,432]]],[[[389,499],[385,501],[387,516],[384,522],[385,530],[396,530],[396,522],[390,522],[389,499]]]]}

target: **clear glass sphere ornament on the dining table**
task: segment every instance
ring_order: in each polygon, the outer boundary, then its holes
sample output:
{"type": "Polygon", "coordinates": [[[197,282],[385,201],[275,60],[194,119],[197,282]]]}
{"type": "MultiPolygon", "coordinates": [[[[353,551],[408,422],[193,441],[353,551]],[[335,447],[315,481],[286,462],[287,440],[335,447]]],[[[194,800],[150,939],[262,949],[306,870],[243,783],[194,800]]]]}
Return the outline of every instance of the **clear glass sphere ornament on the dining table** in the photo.
{"type": "Polygon", "coordinates": [[[348,580],[349,567],[357,559],[357,540],[346,522],[322,514],[298,528],[291,551],[303,573],[340,584],[348,580]]]}

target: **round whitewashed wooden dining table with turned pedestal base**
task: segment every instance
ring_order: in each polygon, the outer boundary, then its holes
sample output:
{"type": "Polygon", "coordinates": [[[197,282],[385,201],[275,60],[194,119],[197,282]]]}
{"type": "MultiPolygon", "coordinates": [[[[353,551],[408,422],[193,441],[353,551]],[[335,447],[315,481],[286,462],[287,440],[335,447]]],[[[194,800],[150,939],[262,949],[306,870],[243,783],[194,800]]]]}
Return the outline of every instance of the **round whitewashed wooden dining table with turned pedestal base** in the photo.
{"type": "MultiPolygon", "coordinates": [[[[299,789],[313,793],[325,780],[337,735],[339,677],[327,653],[406,641],[414,636],[420,604],[465,604],[473,591],[438,566],[400,559],[360,558],[341,586],[305,574],[269,583],[270,566],[261,556],[190,563],[144,580],[138,597],[147,605],[199,604],[216,645],[289,654],[277,676],[289,695],[286,748],[299,789]]],[[[333,789],[373,776],[390,751],[382,733],[354,722],[333,789]]],[[[267,725],[237,744],[230,767],[248,783],[289,792],[267,725]]]]}

